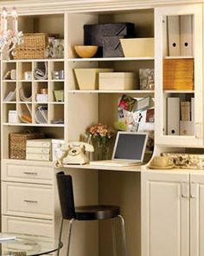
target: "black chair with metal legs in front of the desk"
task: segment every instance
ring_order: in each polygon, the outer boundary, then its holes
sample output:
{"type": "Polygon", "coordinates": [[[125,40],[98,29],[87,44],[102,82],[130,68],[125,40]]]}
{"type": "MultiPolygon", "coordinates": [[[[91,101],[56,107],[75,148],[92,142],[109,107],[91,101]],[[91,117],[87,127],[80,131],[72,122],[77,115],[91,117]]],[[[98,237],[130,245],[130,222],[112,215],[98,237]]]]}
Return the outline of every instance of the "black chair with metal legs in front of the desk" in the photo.
{"type": "MultiPolygon", "coordinates": [[[[66,175],[64,172],[60,172],[56,175],[57,185],[59,191],[59,197],[61,202],[61,230],[60,240],[63,227],[63,220],[69,220],[68,225],[68,241],[67,241],[67,256],[69,254],[71,231],[74,220],[107,220],[113,218],[119,218],[121,220],[122,234],[124,240],[124,256],[127,256],[126,239],[124,232],[124,218],[120,215],[120,208],[115,206],[83,206],[75,207],[73,198],[73,181],[71,175],[66,175]]],[[[116,256],[116,238],[115,232],[112,229],[112,244],[113,253],[116,256]]],[[[59,255],[60,251],[58,251],[59,255]]]]}

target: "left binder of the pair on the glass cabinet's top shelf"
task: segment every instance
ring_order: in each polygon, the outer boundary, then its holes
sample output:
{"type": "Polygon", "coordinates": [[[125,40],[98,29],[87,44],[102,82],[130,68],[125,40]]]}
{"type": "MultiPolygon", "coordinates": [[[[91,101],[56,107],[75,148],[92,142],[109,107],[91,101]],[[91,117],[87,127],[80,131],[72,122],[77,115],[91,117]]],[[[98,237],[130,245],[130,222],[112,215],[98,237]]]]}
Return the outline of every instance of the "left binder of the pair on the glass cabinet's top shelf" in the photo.
{"type": "Polygon", "coordinates": [[[180,56],[180,18],[168,16],[169,56],[180,56]]]}

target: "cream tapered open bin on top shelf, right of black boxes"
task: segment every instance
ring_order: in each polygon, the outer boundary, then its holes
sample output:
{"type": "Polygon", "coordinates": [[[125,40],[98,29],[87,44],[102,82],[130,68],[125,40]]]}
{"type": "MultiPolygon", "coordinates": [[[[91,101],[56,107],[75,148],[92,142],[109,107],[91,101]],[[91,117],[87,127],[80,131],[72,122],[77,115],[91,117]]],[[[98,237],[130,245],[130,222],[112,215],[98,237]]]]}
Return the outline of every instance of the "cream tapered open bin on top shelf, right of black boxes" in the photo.
{"type": "Polygon", "coordinates": [[[154,38],[124,38],[120,39],[124,57],[153,57],[154,38]]]}

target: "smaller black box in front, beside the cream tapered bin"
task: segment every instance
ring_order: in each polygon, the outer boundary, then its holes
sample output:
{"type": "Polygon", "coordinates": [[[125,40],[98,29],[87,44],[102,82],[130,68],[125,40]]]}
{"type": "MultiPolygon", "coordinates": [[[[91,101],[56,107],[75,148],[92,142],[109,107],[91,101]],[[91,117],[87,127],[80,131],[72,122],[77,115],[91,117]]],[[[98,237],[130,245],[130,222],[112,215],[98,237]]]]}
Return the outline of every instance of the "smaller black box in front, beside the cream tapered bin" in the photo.
{"type": "Polygon", "coordinates": [[[124,57],[124,52],[119,41],[124,36],[104,36],[103,56],[104,57],[124,57]]]}

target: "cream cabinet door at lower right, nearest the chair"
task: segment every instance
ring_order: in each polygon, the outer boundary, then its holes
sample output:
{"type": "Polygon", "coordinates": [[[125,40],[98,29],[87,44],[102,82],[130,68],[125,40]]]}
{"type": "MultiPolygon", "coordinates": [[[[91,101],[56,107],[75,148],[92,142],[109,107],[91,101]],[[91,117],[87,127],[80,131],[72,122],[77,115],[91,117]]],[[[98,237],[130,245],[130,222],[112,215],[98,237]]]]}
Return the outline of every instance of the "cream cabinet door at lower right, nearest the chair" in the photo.
{"type": "Polygon", "coordinates": [[[188,174],[142,174],[142,256],[188,256],[188,174]]]}

